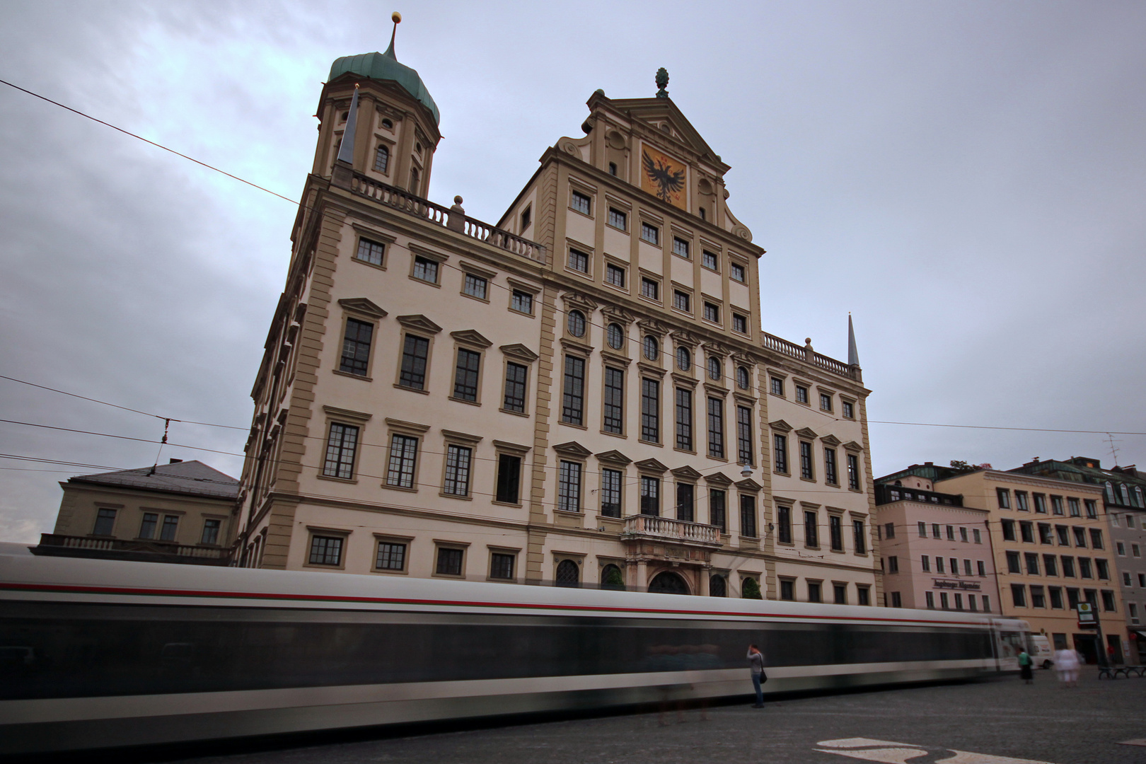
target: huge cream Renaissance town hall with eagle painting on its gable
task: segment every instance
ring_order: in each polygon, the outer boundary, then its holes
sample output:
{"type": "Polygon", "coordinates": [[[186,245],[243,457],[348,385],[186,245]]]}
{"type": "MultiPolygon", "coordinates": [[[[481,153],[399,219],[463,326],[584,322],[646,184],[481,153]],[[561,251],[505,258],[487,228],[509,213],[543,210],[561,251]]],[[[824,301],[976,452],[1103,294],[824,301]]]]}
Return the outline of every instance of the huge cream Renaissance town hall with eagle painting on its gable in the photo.
{"type": "Polygon", "coordinates": [[[425,198],[393,44],[333,63],[236,564],[876,604],[854,337],[761,331],[764,250],[667,81],[594,93],[493,226],[425,198]]]}

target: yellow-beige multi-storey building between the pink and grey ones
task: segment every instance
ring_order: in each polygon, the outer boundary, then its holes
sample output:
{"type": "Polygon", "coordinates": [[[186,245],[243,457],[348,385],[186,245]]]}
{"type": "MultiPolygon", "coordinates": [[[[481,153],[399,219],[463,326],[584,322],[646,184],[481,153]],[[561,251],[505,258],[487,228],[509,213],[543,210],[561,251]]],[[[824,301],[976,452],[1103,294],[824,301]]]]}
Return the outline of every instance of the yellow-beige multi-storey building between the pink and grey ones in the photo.
{"type": "Polygon", "coordinates": [[[1055,649],[1070,646],[1098,660],[1099,651],[1115,647],[1122,660],[1122,598],[1114,580],[1110,537],[1099,515],[1102,490],[1097,486],[1014,472],[975,468],[960,472],[935,465],[913,465],[881,478],[928,478],[936,491],[963,497],[967,507],[986,510],[1002,615],[1028,621],[1052,640],[1055,649]],[[1090,602],[1102,623],[1104,640],[1080,629],[1074,612],[1090,602]]]}

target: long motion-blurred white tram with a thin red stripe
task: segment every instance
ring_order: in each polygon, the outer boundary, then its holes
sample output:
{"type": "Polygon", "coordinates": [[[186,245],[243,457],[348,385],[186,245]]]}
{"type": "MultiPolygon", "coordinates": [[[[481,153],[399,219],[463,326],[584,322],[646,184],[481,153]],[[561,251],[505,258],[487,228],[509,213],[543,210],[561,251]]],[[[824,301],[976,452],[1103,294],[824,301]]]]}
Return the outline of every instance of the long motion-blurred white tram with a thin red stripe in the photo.
{"type": "MultiPolygon", "coordinates": [[[[973,678],[972,613],[0,551],[0,754],[973,678]]],[[[1004,637],[1004,635],[1006,635],[1004,637]]]]}

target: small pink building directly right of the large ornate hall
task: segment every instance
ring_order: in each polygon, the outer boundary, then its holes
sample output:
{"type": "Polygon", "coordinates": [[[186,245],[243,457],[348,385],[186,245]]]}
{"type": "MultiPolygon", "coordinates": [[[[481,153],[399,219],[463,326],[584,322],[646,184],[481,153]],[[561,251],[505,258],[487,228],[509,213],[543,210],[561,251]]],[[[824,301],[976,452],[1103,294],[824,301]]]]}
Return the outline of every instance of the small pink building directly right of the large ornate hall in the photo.
{"type": "Polygon", "coordinates": [[[876,483],[884,605],[998,613],[990,512],[933,490],[929,478],[876,483]]]}

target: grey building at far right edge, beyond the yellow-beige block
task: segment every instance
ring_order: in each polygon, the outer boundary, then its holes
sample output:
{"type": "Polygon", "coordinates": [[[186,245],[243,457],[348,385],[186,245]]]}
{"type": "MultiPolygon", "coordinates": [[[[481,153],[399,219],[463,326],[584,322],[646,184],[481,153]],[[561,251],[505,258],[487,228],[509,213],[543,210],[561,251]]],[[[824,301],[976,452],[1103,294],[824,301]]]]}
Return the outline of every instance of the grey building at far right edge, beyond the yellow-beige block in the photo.
{"type": "MultiPolygon", "coordinates": [[[[1073,456],[1062,462],[1033,459],[1012,470],[1073,482],[1086,482],[1102,489],[1101,517],[1110,535],[1112,557],[1125,604],[1124,654],[1132,663],[1146,663],[1146,474],[1135,465],[1104,468],[1099,459],[1073,456]]],[[[1107,619],[1113,621],[1114,619],[1107,619]]],[[[1112,627],[1107,623],[1106,629],[1112,627]]]]}

